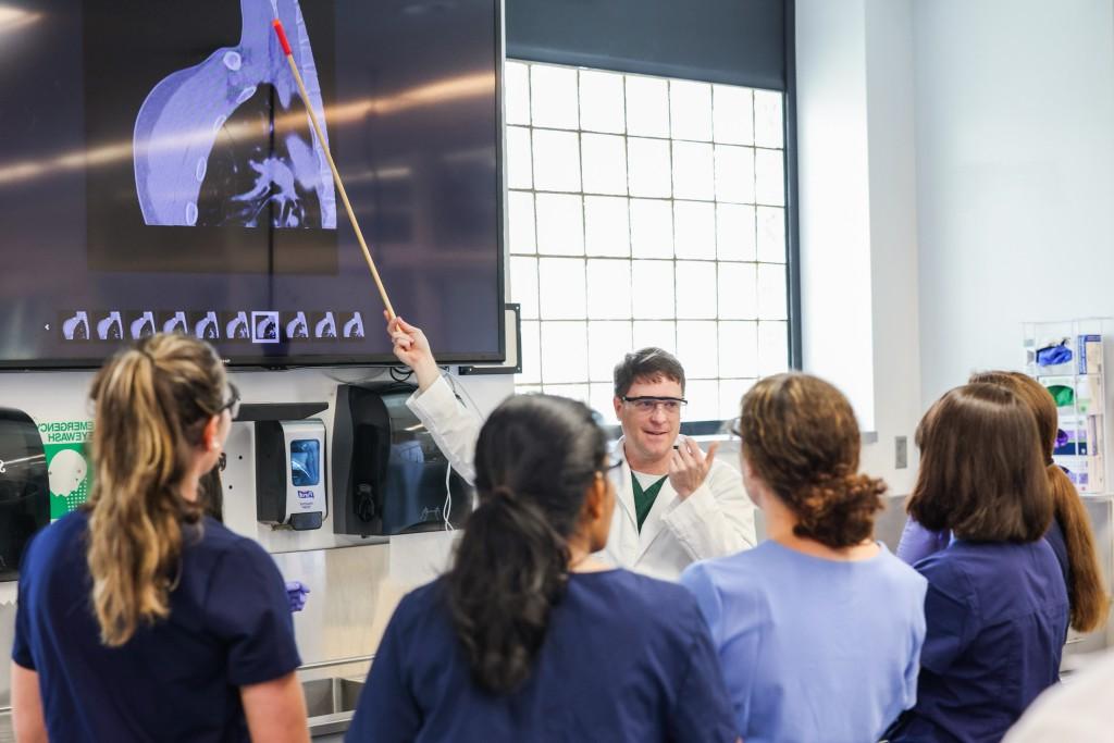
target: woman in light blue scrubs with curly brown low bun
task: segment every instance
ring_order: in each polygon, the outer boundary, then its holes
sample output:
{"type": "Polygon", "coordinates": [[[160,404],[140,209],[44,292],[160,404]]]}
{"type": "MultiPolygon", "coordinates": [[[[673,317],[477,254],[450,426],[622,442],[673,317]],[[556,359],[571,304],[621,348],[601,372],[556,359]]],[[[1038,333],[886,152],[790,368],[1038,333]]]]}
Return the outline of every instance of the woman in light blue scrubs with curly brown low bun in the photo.
{"type": "Polygon", "coordinates": [[[711,627],[739,733],[877,741],[917,700],[926,585],[873,540],[886,486],[858,472],[851,405],[823,380],[779,374],[743,398],[737,433],[768,540],[681,583],[711,627]]]}

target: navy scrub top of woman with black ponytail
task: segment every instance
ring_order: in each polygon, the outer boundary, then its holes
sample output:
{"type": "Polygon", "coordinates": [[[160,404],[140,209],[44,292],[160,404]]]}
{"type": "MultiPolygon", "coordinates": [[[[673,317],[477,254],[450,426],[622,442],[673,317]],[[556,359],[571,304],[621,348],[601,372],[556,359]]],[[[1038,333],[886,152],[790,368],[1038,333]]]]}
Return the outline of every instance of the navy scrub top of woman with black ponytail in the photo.
{"type": "Polygon", "coordinates": [[[684,588],[626,570],[574,573],[521,688],[479,688],[453,634],[443,579],[399,604],[345,740],[736,739],[723,676],[684,588]]]}

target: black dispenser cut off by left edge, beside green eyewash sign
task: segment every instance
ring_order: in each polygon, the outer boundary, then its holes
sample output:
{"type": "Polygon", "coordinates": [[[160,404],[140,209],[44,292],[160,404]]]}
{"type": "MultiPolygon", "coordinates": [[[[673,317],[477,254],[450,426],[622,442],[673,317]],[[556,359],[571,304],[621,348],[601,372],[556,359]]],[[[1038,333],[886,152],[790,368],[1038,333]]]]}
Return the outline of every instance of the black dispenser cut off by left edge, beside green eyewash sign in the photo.
{"type": "Polygon", "coordinates": [[[47,457],[35,421],[0,408],[0,580],[19,577],[19,560],[35,532],[50,522],[47,457]]]}

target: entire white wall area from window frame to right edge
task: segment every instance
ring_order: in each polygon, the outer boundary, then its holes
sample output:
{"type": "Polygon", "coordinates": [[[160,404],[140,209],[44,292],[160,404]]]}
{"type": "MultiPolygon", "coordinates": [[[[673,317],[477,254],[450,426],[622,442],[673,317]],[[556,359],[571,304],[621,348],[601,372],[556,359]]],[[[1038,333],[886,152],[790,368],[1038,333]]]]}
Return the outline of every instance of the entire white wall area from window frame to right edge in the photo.
{"type": "Polygon", "coordinates": [[[908,492],[921,412],[973,370],[1018,368],[1023,322],[1114,315],[1114,11],[797,14],[804,364],[878,432],[863,469],[908,492]]]}

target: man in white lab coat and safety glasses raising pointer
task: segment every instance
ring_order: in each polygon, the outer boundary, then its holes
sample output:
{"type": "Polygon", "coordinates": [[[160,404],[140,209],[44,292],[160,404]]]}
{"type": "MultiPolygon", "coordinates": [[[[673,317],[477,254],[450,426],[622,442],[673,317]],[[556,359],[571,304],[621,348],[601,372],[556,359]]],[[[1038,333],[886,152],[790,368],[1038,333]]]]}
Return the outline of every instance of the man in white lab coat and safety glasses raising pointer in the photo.
{"type": "MultiPolygon", "coordinates": [[[[408,407],[471,482],[482,421],[457,400],[420,329],[397,319],[388,333],[394,355],[417,378],[408,407]]],[[[615,414],[623,427],[615,448],[619,507],[604,555],[618,567],[667,580],[696,560],[756,544],[754,505],[739,472],[715,459],[715,443],[705,454],[678,438],[684,388],[684,369],[661,349],[628,353],[615,368],[615,414]]]]}

